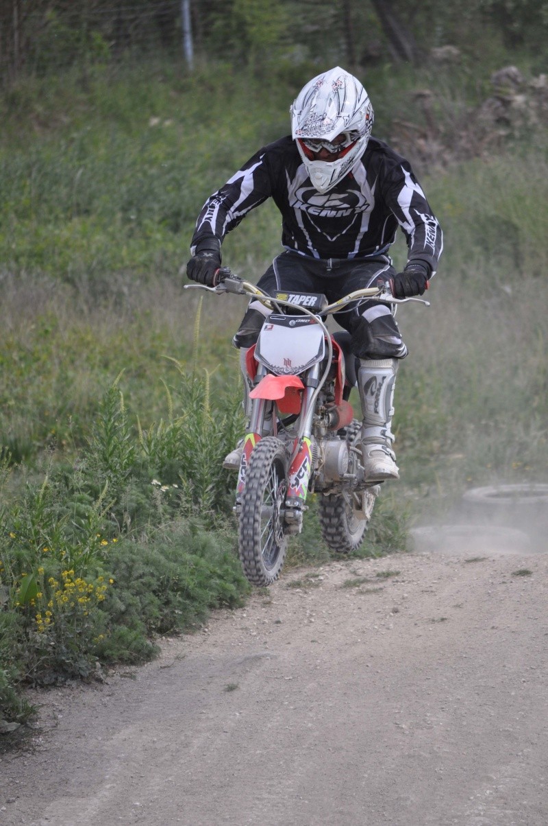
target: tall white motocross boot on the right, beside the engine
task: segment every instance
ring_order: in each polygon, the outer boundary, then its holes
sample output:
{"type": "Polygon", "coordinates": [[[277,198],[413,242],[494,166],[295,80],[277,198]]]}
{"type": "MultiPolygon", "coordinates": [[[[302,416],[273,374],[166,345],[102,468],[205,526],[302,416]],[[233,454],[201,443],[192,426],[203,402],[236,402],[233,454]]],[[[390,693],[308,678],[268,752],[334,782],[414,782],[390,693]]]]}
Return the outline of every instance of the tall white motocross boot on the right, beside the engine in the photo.
{"type": "Polygon", "coordinates": [[[399,479],[392,449],[394,435],[390,430],[397,370],[397,358],[360,359],[357,382],[363,413],[361,451],[366,482],[399,479]]]}

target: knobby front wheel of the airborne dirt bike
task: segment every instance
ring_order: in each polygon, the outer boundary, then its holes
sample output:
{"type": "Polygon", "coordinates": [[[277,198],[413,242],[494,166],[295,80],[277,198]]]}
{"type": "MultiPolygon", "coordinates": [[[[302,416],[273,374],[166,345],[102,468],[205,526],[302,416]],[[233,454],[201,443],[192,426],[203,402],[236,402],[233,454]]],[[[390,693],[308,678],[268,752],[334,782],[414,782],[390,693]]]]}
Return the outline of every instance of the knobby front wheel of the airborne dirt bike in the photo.
{"type": "Polygon", "coordinates": [[[288,466],[289,453],[274,436],[261,439],[249,458],[239,512],[239,557],[253,585],[271,585],[286,558],[288,466]]]}

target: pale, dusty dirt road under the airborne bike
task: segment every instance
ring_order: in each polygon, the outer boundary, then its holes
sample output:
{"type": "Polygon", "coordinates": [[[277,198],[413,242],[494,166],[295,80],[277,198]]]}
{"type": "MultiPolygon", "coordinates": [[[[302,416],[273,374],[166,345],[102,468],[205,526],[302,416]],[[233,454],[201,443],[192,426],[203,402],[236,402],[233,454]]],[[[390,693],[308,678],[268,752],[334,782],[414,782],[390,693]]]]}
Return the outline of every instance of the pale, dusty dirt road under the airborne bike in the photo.
{"type": "Polygon", "coordinates": [[[45,695],[0,824],[546,826],[547,600],[541,554],[286,572],[156,662],[45,695]]]}

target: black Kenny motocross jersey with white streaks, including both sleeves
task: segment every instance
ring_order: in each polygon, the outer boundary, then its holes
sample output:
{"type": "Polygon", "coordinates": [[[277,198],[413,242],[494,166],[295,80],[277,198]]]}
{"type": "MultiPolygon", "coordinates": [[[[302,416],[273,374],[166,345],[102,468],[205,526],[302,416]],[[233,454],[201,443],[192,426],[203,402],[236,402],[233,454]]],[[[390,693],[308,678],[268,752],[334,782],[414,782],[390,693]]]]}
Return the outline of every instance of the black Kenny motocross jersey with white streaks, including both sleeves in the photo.
{"type": "Polygon", "coordinates": [[[248,211],[272,197],[282,216],[281,243],[314,259],[364,259],[385,253],[398,226],[409,261],[432,272],[442,253],[442,230],[409,162],[381,140],[370,138],[365,153],[324,195],[314,189],[290,135],[259,150],[201,210],[192,238],[224,235],[248,211]]]}

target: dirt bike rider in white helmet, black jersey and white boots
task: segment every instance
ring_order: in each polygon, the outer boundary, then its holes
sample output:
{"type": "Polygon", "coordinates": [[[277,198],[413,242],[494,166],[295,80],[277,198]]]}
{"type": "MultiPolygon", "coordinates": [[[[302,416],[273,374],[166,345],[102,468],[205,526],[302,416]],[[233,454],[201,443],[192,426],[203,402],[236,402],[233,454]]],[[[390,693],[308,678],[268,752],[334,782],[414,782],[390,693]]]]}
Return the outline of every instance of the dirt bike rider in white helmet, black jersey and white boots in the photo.
{"type": "MultiPolygon", "coordinates": [[[[286,249],[257,282],[265,292],[319,292],[332,302],[382,281],[396,298],[422,295],[442,253],[442,231],[409,162],[371,138],[372,126],[373,108],[357,78],[338,66],[312,78],[291,106],[291,136],[258,150],[204,204],[188,277],[215,285],[224,235],[272,197],[286,249]],[[409,250],[400,273],[388,255],[398,226],[409,250]]],[[[237,348],[257,341],[267,313],[251,301],[233,339],[237,348]]],[[[388,304],[360,301],[335,319],[359,358],[366,479],[397,479],[391,420],[407,347],[388,304]]],[[[224,467],[238,467],[240,455],[241,449],[229,453],[224,467]]]]}

